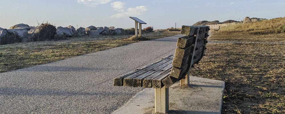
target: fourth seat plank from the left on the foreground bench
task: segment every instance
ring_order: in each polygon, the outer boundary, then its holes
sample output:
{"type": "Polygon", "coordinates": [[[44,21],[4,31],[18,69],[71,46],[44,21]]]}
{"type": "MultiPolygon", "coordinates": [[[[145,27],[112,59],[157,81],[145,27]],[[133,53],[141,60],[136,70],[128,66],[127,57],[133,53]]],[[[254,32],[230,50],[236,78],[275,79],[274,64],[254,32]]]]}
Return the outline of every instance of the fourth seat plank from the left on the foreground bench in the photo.
{"type": "Polygon", "coordinates": [[[168,69],[171,69],[171,68],[172,68],[172,65],[169,64],[168,66],[166,66],[166,67],[161,69],[162,72],[155,72],[154,74],[144,78],[143,79],[143,87],[145,87],[145,88],[152,88],[152,80],[155,79],[160,74],[166,72],[168,69]]]}

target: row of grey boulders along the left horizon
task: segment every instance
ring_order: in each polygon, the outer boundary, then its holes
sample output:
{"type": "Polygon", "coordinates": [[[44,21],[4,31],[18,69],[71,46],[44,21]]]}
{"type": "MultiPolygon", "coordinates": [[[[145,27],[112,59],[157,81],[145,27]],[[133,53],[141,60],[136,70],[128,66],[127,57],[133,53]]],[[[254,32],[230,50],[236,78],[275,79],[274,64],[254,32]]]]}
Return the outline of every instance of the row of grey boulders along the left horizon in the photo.
{"type": "MultiPolygon", "coordinates": [[[[76,37],[76,36],[99,36],[99,35],[120,35],[122,34],[123,28],[115,28],[111,27],[95,27],[89,26],[86,28],[80,27],[76,29],[75,27],[69,25],[67,27],[57,27],[56,34],[57,36],[64,37],[76,37]]],[[[22,42],[31,41],[30,39],[36,33],[38,33],[39,27],[32,27],[27,24],[17,24],[11,26],[9,29],[0,28],[0,42],[1,39],[7,33],[17,34],[20,38],[22,38],[22,42]]]]}

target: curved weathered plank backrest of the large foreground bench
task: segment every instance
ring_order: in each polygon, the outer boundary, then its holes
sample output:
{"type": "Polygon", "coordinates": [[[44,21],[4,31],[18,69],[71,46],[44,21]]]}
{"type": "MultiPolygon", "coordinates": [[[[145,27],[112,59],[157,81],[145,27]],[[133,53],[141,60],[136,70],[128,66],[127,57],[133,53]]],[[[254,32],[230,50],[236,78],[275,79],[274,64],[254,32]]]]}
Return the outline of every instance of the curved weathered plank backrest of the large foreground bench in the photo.
{"type": "Polygon", "coordinates": [[[178,38],[172,70],[162,80],[167,88],[184,79],[190,68],[201,60],[205,54],[208,32],[209,26],[182,26],[180,34],[187,36],[178,38]]]}

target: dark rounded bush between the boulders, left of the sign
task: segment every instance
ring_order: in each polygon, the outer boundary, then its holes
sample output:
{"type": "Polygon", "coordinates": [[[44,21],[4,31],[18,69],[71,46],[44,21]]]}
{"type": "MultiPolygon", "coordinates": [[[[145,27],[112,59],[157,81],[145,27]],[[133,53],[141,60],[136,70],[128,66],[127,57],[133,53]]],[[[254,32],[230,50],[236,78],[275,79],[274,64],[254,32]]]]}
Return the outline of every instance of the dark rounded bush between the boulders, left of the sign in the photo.
{"type": "Polygon", "coordinates": [[[42,23],[38,28],[38,32],[32,37],[33,41],[56,40],[56,27],[50,23],[42,23]]]}

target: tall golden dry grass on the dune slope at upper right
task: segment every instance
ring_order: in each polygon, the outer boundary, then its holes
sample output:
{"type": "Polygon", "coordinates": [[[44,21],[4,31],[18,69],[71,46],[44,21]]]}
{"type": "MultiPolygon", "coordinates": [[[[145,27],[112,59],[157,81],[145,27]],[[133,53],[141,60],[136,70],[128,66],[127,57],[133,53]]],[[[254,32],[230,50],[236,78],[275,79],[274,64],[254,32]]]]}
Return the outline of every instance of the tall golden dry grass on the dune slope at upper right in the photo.
{"type": "Polygon", "coordinates": [[[266,21],[259,21],[259,22],[254,22],[254,23],[247,23],[243,25],[233,25],[233,26],[221,27],[220,31],[249,32],[249,31],[257,31],[257,30],[270,30],[270,29],[276,29],[281,25],[285,25],[285,17],[270,19],[266,21]]]}

